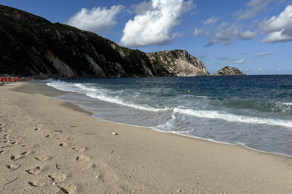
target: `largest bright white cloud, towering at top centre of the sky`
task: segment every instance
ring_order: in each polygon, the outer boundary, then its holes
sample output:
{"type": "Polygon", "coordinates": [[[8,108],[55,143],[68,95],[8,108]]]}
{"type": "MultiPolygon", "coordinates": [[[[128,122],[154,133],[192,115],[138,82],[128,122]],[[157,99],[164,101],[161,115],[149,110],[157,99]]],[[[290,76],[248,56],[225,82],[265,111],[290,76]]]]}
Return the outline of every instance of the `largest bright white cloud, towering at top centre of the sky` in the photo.
{"type": "Polygon", "coordinates": [[[134,20],[129,20],[123,30],[120,45],[141,47],[149,45],[166,45],[169,41],[182,36],[173,33],[181,24],[181,16],[195,7],[193,1],[152,0],[133,5],[134,20]]]}

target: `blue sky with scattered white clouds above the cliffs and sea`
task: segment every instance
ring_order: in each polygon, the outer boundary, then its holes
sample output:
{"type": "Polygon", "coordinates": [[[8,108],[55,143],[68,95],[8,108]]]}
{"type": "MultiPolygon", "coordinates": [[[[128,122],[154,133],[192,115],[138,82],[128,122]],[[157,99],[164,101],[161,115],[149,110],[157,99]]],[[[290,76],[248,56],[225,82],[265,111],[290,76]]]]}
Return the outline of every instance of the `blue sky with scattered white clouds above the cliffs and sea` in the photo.
{"type": "Polygon", "coordinates": [[[292,0],[0,0],[143,52],[187,50],[214,74],[292,74],[292,0]]]}

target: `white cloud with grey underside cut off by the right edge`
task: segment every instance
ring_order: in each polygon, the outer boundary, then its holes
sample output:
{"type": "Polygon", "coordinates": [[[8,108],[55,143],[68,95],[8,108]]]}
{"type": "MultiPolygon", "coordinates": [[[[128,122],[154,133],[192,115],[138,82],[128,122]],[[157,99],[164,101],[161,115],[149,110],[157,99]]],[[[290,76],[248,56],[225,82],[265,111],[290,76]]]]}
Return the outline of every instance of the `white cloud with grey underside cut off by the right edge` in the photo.
{"type": "Polygon", "coordinates": [[[260,24],[263,34],[269,34],[262,43],[292,41],[292,5],[288,5],[279,16],[273,16],[260,24]]]}

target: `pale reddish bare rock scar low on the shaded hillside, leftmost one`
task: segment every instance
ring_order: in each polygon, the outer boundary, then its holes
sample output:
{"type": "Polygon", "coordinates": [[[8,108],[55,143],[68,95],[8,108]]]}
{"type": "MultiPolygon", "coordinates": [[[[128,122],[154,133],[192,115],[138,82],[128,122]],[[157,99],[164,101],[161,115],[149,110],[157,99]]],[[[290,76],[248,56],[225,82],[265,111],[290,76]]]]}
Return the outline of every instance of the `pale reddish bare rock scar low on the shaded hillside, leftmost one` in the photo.
{"type": "Polygon", "coordinates": [[[53,53],[48,49],[45,52],[45,56],[49,62],[53,62],[53,66],[59,71],[61,78],[76,78],[73,70],[58,57],[55,57],[53,53]]]}

